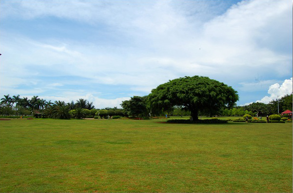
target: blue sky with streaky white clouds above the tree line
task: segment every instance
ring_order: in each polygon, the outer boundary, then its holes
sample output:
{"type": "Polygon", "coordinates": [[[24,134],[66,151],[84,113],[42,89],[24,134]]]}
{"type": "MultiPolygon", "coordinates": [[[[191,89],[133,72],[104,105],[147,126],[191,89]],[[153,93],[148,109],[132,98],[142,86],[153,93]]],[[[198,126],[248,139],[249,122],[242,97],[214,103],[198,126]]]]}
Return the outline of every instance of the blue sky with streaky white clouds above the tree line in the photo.
{"type": "Polygon", "coordinates": [[[292,0],[1,0],[0,95],[96,108],[206,76],[237,105],[292,93],[292,0]]]}

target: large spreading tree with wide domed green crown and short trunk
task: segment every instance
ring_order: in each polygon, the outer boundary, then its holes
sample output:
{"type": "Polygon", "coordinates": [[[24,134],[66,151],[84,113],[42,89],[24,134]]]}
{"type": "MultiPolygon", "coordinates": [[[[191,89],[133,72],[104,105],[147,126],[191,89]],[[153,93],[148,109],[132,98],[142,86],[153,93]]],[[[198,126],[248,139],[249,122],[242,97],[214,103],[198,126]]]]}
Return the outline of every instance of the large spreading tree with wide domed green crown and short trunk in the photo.
{"type": "Polygon", "coordinates": [[[199,111],[215,113],[223,107],[231,108],[238,100],[231,86],[209,77],[181,77],[159,85],[149,95],[152,109],[182,106],[191,112],[194,120],[199,111]]]}

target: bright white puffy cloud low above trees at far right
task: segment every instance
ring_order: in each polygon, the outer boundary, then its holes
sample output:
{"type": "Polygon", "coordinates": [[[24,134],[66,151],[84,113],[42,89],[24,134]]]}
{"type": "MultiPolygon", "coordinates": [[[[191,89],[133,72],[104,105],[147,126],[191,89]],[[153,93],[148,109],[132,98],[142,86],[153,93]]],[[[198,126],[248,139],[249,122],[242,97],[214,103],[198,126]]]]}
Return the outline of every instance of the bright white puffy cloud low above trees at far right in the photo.
{"type": "Polygon", "coordinates": [[[293,78],[286,79],[281,85],[279,85],[278,83],[271,85],[268,90],[268,94],[270,94],[270,96],[265,96],[261,100],[257,100],[256,102],[262,102],[262,103],[268,104],[272,100],[292,94],[293,92],[292,81],[293,81],[293,78]]]}

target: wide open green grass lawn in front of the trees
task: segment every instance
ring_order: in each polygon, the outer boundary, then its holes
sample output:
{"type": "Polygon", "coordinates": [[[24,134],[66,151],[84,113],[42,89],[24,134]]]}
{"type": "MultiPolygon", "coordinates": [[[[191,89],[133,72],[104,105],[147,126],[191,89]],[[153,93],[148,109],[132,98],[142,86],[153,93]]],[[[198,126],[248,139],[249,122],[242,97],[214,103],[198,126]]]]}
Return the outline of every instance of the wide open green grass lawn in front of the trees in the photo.
{"type": "Polygon", "coordinates": [[[292,192],[292,123],[0,121],[0,192],[292,192]]]}

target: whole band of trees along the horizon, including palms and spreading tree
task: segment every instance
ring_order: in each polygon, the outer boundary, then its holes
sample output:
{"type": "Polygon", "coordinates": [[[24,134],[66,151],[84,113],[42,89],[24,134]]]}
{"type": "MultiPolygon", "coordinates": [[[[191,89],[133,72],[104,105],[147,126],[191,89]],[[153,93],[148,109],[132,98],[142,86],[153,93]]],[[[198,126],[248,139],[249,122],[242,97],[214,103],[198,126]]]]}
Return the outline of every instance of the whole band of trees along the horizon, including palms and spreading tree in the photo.
{"type": "Polygon", "coordinates": [[[80,98],[76,102],[54,103],[34,96],[20,95],[1,98],[1,115],[29,115],[50,118],[83,118],[92,116],[266,116],[292,110],[292,94],[273,100],[269,104],[252,103],[236,106],[237,91],[232,87],[208,77],[181,77],[169,80],[153,89],[148,96],[131,97],[122,101],[122,109],[95,109],[93,102],[80,98]],[[107,115],[108,114],[108,115],[107,115]]]}

